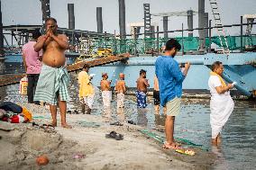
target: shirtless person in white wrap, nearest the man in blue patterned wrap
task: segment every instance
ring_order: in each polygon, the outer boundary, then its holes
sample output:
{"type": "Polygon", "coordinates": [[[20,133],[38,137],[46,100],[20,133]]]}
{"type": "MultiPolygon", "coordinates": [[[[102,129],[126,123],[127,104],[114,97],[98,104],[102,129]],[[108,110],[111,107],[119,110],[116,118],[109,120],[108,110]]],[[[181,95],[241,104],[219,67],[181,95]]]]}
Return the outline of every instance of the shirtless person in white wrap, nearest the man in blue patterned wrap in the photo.
{"type": "Polygon", "coordinates": [[[124,93],[126,92],[125,82],[124,82],[124,74],[119,74],[119,80],[117,80],[115,85],[116,91],[116,103],[117,108],[123,108],[123,101],[124,101],[124,93]]]}

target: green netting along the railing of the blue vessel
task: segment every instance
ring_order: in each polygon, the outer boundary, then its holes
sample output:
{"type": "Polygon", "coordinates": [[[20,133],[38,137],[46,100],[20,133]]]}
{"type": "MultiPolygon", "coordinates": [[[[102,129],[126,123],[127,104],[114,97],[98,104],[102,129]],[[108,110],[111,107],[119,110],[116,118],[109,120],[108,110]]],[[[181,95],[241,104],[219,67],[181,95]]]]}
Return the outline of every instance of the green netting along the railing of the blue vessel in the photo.
{"type": "MultiPolygon", "coordinates": [[[[175,37],[180,44],[183,44],[183,49],[185,52],[191,50],[197,50],[199,47],[198,37],[175,37]]],[[[224,37],[222,37],[224,41],[224,37]]],[[[241,37],[240,36],[229,36],[226,37],[228,47],[231,50],[241,49],[241,37]]],[[[135,54],[135,50],[139,54],[150,53],[151,51],[157,51],[165,45],[167,39],[160,38],[157,40],[156,38],[152,39],[125,39],[125,40],[117,40],[114,38],[101,38],[96,40],[90,40],[88,52],[96,51],[97,48],[111,48],[114,51],[114,54],[120,54],[125,52],[130,52],[131,54],[135,54]]],[[[221,41],[218,36],[212,37],[211,41],[214,42],[220,48],[222,47],[221,41]]],[[[206,38],[206,49],[209,48],[209,39],[206,38]]],[[[245,46],[256,45],[256,35],[253,36],[243,36],[242,37],[242,48],[245,46]]],[[[223,44],[224,48],[226,48],[225,44],[223,44]]]]}

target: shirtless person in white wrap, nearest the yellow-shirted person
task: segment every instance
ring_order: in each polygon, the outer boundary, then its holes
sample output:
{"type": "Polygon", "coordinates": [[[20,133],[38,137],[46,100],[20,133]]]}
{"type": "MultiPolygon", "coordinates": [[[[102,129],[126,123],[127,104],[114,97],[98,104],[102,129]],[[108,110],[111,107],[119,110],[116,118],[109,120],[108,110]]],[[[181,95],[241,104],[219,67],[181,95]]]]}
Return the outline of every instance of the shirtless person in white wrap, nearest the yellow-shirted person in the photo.
{"type": "Polygon", "coordinates": [[[111,92],[111,81],[107,80],[107,73],[102,74],[102,80],[100,82],[101,91],[102,91],[102,100],[105,107],[110,107],[110,102],[112,99],[111,92]]]}

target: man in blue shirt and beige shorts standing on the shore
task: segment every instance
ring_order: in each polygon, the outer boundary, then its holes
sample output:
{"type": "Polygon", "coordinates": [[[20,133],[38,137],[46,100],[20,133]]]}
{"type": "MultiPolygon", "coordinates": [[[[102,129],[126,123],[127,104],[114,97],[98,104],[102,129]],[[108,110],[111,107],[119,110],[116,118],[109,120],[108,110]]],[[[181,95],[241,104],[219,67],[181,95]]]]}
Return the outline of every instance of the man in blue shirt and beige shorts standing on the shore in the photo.
{"type": "Polygon", "coordinates": [[[178,148],[178,143],[173,138],[175,117],[180,112],[182,82],[187,76],[190,67],[185,64],[183,73],[174,59],[177,51],[181,49],[177,40],[170,39],[166,42],[165,53],[157,58],[155,73],[159,80],[160,104],[166,106],[167,118],[165,121],[166,143],[163,148],[178,148]]]}

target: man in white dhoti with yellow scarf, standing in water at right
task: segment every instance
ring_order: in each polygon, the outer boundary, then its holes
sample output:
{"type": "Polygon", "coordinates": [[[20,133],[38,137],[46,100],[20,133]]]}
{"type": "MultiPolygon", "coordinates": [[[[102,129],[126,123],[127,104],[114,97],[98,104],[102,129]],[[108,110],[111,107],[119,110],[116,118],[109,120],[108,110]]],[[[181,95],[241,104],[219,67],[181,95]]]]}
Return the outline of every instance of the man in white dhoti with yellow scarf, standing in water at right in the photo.
{"type": "Polygon", "coordinates": [[[215,61],[211,67],[212,72],[208,80],[208,85],[211,93],[210,102],[210,124],[212,128],[212,143],[220,143],[220,133],[225,122],[233,112],[233,99],[230,96],[229,90],[233,88],[233,84],[226,85],[221,77],[224,72],[222,62],[215,61]]]}

